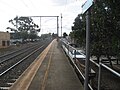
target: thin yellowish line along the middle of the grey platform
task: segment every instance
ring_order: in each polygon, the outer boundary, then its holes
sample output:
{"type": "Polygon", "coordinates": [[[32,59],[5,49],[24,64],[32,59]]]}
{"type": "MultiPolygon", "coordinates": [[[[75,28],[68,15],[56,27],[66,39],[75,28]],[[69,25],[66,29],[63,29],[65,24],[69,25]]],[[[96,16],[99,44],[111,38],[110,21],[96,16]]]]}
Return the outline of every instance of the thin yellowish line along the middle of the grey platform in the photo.
{"type": "Polygon", "coordinates": [[[50,52],[50,58],[49,58],[48,66],[47,66],[47,69],[46,69],[46,72],[45,72],[45,75],[44,75],[44,78],[43,78],[43,81],[42,81],[42,87],[41,87],[40,90],[44,90],[45,86],[46,86],[46,80],[47,80],[47,77],[48,77],[48,72],[49,72],[51,61],[52,61],[52,55],[53,55],[53,50],[54,50],[53,48],[54,48],[54,46],[52,46],[52,50],[50,52]]]}

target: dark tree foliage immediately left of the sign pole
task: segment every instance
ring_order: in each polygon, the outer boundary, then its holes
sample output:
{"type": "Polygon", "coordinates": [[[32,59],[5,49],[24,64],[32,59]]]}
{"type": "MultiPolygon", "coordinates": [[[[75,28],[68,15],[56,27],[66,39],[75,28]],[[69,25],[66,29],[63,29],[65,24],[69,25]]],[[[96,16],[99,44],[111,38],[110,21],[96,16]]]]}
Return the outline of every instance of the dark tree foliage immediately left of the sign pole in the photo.
{"type": "Polygon", "coordinates": [[[85,17],[82,14],[79,14],[75,21],[73,22],[74,26],[72,26],[72,38],[74,38],[74,42],[79,44],[79,46],[83,46],[85,48],[85,17]]]}

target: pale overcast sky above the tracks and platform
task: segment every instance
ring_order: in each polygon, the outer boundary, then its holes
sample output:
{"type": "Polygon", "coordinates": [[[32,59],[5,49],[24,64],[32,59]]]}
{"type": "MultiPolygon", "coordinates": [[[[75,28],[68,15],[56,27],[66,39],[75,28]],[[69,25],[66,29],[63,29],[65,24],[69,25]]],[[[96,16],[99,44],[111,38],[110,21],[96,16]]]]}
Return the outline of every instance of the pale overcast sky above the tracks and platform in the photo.
{"type": "MultiPolygon", "coordinates": [[[[7,27],[13,27],[8,21],[16,16],[59,16],[59,36],[62,33],[71,32],[74,19],[82,12],[81,5],[86,0],[0,0],[0,31],[9,31],[7,27]]],[[[41,32],[57,33],[57,18],[42,17],[32,18],[41,25],[41,32]]]]}

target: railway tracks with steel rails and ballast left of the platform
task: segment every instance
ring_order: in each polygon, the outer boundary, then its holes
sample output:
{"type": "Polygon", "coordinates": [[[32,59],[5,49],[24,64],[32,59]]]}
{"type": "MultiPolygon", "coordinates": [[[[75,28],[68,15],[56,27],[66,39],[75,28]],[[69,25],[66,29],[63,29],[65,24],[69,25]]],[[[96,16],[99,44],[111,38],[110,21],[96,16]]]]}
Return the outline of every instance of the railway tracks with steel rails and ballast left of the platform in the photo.
{"type": "Polygon", "coordinates": [[[50,42],[34,44],[5,55],[6,58],[4,56],[5,59],[0,61],[0,90],[9,89],[50,42]]]}

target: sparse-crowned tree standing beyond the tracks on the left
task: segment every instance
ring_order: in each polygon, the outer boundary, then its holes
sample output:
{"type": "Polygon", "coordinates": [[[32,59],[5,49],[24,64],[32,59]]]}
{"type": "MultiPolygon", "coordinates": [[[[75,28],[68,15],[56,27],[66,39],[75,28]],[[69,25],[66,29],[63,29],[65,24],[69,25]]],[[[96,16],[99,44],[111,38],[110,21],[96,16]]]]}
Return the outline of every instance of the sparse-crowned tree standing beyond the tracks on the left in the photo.
{"type": "Polygon", "coordinates": [[[9,20],[9,22],[16,27],[16,29],[8,28],[19,32],[23,39],[34,39],[37,36],[37,32],[40,31],[39,26],[33,22],[31,17],[16,16],[14,19],[9,20]],[[34,38],[32,36],[34,36],[34,38]]]}

